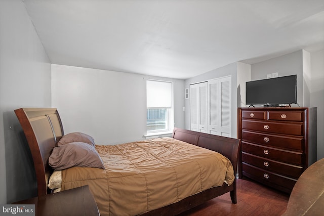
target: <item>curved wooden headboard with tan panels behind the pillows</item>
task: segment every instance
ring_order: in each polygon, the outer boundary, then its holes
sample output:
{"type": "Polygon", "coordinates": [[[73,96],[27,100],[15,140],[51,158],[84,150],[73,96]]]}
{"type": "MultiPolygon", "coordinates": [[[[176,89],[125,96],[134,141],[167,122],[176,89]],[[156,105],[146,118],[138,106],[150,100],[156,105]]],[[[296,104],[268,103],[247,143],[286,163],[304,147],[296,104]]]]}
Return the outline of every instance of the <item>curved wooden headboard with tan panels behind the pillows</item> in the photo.
{"type": "Polygon", "coordinates": [[[59,113],[55,108],[21,108],[15,110],[25,133],[36,171],[38,196],[46,195],[53,172],[49,157],[64,135],[59,113]]]}

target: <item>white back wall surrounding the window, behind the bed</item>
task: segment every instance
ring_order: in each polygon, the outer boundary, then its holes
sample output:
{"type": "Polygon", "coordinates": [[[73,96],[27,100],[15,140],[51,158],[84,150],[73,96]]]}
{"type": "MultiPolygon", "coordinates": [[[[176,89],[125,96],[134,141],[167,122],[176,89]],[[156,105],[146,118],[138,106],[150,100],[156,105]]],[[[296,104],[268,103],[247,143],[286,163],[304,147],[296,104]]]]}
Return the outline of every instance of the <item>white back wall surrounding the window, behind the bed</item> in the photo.
{"type": "Polygon", "coordinates": [[[145,139],[146,79],[174,82],[175,126],[184,128],[184,80],[52,65],[52,106],[65,134],[83,132],[97,144],[145,139]]]}

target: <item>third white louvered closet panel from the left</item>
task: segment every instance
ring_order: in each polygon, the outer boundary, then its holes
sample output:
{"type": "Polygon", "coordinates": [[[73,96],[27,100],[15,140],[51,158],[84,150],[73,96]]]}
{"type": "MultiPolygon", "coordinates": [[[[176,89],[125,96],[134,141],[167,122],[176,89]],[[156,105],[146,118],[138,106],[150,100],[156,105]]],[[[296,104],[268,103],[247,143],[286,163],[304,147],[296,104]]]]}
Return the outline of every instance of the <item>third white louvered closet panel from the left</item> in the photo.
{"type": "Polygon", "coordinates": [[[208,133],[220,135],[219,132],[219,79],[208,81],[208,133]]]}

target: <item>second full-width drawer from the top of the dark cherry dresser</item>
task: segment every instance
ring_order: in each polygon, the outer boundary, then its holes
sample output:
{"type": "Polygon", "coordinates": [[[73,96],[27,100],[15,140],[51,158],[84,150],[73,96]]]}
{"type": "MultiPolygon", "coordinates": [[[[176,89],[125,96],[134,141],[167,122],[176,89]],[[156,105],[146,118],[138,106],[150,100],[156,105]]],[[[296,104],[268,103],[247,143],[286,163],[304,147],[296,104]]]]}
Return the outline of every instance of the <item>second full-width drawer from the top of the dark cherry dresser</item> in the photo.
{"type": "Polygon", "coordinates": [[[289,137],[242,131],[242,140],[279,148],[304,150],[304,137],[289,137]]]}

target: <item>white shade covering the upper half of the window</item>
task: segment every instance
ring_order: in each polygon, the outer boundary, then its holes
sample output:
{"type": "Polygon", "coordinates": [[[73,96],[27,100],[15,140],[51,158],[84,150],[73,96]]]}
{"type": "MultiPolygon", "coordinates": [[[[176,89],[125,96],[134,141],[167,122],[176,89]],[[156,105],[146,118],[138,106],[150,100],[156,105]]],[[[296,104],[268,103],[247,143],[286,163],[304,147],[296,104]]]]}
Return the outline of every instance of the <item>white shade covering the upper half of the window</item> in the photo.
{"type": "Polygon", "coordinates": [[[146,80],[146,106],[148,108],[171,108],[172,82],[146,80]]]}

